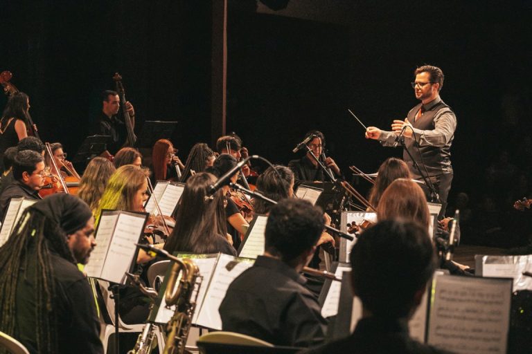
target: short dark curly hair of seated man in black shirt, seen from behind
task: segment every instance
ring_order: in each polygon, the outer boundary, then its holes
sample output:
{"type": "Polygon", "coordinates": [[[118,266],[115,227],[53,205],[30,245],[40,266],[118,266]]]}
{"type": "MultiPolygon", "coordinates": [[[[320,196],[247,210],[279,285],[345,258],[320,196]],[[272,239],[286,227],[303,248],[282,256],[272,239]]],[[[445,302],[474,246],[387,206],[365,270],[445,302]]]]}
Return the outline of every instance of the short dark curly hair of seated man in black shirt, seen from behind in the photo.
{"type": "Polygon", "coordinates": [[[290,262],[316,245],[323,231],[323,212],[303,199],[283,199],[269,212],[265,250],[290,262]]]}

